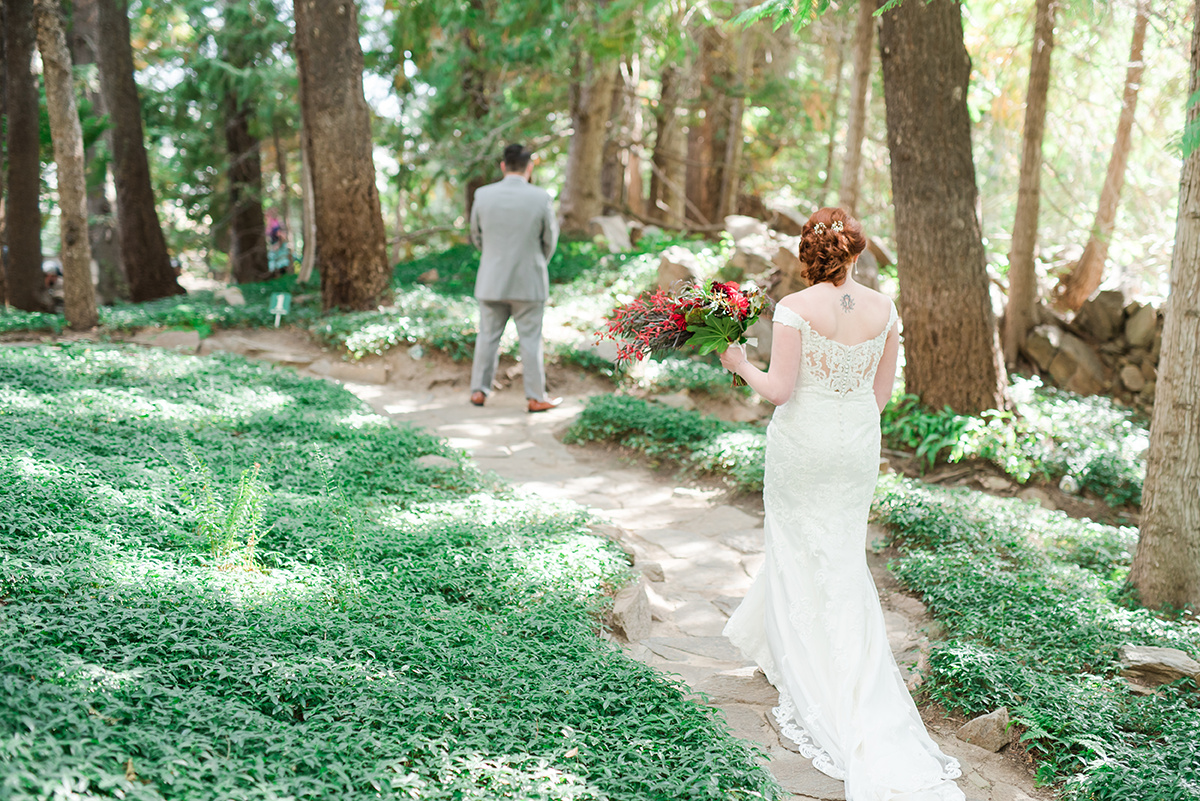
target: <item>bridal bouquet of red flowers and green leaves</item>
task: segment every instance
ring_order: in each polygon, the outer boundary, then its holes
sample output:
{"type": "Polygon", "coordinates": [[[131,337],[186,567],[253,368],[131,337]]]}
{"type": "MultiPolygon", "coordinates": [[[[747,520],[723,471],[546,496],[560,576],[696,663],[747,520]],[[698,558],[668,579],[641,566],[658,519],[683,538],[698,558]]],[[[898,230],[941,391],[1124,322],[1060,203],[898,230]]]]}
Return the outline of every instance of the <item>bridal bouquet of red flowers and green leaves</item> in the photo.
{"type": "Polygon", "coordinates": [[[725,353],[731,344],[745,342],[746,329],[769,303],[754,284],[685,283],[670,294],[658,289],[616,307],[596,336],[618,343],[618,363],[684,347],[702,355],[725,353]]]}

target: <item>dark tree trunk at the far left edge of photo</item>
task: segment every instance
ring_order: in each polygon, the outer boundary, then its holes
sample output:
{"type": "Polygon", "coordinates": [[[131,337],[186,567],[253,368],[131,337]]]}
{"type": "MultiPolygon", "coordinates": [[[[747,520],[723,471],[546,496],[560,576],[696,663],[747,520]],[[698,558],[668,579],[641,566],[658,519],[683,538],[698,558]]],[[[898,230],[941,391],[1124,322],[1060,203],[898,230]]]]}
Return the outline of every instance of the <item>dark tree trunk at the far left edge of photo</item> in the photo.
{"type": "Polygon", "coordinates": [[[37,205],[42,165],[37,135],[37,76],[34,74],[34,0],[5,0],[5,10],[8,302],[26,312],[49,312],[42,272],[42,212],[37,205]]]}

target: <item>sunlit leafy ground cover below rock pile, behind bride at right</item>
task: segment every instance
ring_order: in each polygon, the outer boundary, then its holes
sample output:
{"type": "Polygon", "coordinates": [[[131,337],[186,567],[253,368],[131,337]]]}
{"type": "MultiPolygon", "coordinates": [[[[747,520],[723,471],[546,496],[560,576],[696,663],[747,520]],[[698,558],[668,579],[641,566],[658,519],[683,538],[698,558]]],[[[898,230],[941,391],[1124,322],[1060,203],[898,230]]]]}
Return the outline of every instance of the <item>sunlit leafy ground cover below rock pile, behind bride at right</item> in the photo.
{"type": "Polygon", "coordinates": [[[898,395],[883,411],[884,444],[938,460],[991,462],[1020,483],[1064,476],[1109,506],[1141,505],[1150,445],[1145,418],[1104,396],[1084,397],[1013,377],[1013,411],[982,417],[934,411],[898,395]]]}

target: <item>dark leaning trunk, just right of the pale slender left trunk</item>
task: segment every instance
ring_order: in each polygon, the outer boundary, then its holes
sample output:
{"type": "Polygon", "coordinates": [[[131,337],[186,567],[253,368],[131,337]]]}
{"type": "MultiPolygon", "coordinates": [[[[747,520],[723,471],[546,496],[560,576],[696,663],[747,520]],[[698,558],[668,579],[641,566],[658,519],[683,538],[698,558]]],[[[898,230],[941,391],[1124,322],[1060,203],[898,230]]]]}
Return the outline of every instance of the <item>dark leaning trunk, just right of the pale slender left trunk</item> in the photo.
{"type": "Polygon", "coordinates": [[[170,266],[158,224],[150,164],[142,133],[142,106],[133,80],[133,52],[126,0],[97,0],[100,88],[108,106],[116,183],[116,225],[121,263],[134,302],[184,294],[170,266]]]}

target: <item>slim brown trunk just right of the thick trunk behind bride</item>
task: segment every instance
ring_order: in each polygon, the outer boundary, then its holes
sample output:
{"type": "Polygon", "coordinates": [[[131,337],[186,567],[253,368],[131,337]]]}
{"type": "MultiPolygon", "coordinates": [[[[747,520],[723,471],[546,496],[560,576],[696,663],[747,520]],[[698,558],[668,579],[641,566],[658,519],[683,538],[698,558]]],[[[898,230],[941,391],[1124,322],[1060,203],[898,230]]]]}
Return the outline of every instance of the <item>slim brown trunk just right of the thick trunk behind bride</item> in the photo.
{"type": "Polygon", "coordinates": [[[1033,23],[1033,52],[1030,55],[1030,85],[1025,92],[1025,132],[1021,174],[1013,219],[1013,243],[1008,253],[1008,306],[1004,312],[1004,363],[1016,367],[1025,337],[1034,324],[1038,277],[1033,251],[1038,242],[1038,205],[1042,192],[1042,139],[1050,91],[1050,53],[1054,50],[1056,0],[1037,0],[1033,23]]]}

